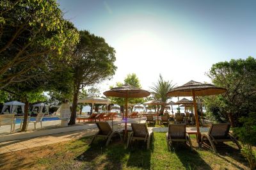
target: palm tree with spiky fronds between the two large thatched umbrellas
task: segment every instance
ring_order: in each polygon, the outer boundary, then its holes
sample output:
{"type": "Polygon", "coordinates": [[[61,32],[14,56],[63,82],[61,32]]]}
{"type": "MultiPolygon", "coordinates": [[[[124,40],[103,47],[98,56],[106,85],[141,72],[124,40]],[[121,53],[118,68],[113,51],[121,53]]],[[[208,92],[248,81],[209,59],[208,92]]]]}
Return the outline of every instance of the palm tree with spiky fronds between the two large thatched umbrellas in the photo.
{"type": "MultiPolygon", "coordinates": [[[[150,87],[152,90],[151,93],[155,100],[161,100],[162,102],[167,102],[170,97],[166,97],[166,93],[173,89],[176,84],[173,84],[172,81],[164,81],[162,75],[159,75],[159,79],[156,83],[153,83],[153,86],[150,87]]],[[[159,114],[163,114],[164,107],[161,107],[159,114]]]]}

